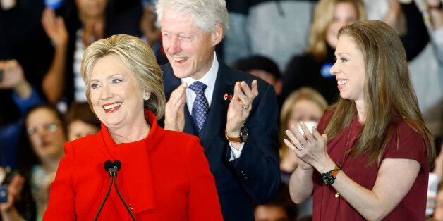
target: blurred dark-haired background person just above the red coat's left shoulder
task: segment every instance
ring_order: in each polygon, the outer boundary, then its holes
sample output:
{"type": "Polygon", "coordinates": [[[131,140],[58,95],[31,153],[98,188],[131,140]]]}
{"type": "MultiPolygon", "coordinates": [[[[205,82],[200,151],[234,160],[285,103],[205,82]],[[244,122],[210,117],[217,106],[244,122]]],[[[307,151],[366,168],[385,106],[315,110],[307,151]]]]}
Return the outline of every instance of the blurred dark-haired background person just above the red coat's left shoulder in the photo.
{"type": "Polygon", "coordinates": [[[97,134],[100,130],[100,121],[87,102],[72,103],[66,114],[65,124],[68,130],[68,141],[97,134]]]}

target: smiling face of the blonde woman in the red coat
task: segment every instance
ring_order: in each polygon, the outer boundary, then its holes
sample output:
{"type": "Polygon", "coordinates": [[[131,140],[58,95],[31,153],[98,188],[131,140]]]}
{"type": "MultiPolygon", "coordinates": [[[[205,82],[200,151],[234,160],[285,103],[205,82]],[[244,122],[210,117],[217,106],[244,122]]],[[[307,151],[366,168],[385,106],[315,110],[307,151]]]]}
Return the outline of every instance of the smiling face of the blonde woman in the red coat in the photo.
{"type": "Polygon", "coordinates": [[[145,119],[142,89],[118,58],[99,58],[90,75],[92,108],[105,126],[118,128],[145,119]]]}

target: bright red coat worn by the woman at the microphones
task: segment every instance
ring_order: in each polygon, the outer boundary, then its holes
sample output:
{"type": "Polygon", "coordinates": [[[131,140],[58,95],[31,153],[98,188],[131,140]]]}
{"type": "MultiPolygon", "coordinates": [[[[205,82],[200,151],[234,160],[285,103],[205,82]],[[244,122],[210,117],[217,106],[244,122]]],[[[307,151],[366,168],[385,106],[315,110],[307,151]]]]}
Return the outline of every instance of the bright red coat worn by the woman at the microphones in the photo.
{"type": "MultiPolygon", "coordinates": [[[[145,139],[116,145],[107,127],[66,143],[43,220],[93,220],[109,187],[106,160],[120,160],[117,184],[137,220],[223,220],[198,137],[163,130],[147,111],[145,139]]],[[[114,189],[98,220],[131,220],[114,189]]]]}

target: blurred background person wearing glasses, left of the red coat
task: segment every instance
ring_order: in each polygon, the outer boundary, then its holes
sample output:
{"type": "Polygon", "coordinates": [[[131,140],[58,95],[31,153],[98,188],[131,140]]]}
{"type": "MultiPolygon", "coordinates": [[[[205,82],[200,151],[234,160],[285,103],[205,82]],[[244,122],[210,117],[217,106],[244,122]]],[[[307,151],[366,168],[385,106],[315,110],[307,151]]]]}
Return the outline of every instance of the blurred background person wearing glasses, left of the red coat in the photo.
{"type": "Polygon", "coordinates": [[[28,144],[25,141],[20,146],[20,170],[30,184],[37,220],[42,220],[49,201],[49,187],[66,143],[63,115],[52,106],[35,106],[25,115],[25,133],[28,144]]]}

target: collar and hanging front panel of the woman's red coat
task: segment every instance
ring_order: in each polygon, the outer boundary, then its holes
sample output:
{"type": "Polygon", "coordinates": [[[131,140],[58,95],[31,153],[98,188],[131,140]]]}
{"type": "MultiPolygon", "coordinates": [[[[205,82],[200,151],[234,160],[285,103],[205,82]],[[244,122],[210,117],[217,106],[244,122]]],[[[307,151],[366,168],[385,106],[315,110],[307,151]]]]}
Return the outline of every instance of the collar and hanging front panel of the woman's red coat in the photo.
{"type": "MultiPolygon", "coordinates": [[[[154,180],[152,179],[152,168],[150,165],[149,152],[164,136],[164,130],[157,125],[157,119],[150,110],[145,110],[145,116],[151,126],[150,132],[145,139],[132,143],[116,144],[111,134],[102,124],[99,134],[99,144],[109,160],[121,161],[121,172],[119,183],[124,180],[128,192],[128,203],[131,202],[134,213],[142,210],[155,209],[154,180]]],[[[119,199],[116,198],[117,201],[119,199]]]]}

